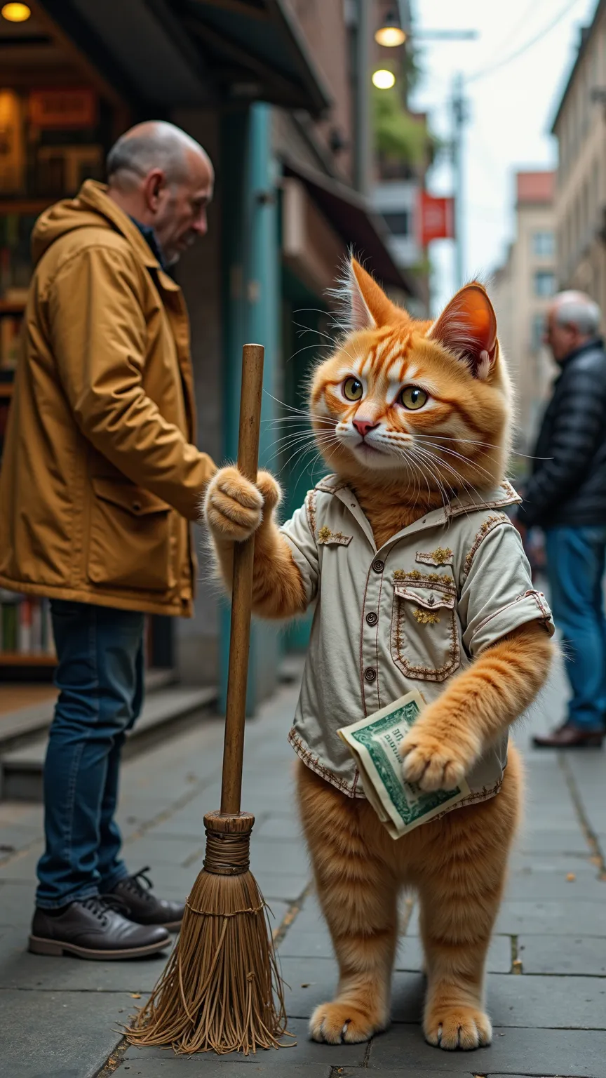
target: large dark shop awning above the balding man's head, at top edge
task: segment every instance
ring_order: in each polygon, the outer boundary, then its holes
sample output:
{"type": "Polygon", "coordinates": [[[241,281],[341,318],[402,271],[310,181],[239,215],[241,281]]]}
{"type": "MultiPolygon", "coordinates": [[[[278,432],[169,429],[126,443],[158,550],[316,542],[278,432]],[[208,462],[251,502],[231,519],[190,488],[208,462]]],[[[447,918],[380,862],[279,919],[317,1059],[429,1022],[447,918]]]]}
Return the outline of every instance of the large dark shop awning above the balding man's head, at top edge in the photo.
{"type": "Polygon", "coordinates": [[[330,105],[286,0],[40,0],[133,102],[175,108],[268,101],[330,105]]]}

